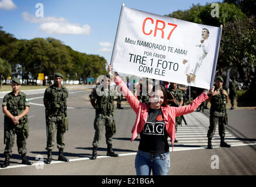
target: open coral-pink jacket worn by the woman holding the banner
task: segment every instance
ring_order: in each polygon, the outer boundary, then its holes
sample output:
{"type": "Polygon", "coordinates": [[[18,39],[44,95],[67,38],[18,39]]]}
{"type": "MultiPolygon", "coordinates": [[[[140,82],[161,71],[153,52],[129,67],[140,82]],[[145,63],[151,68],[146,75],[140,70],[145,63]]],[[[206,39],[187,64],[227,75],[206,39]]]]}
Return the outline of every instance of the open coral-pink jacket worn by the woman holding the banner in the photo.
{"type": "MultiPolygon", "coordinates": [[[[132,139],[133,141],[137,138],[138,134],[143,130],[144,124],[147,122],[148,108],[146,103],[141,103],[133,93],[127,88],[127,85],[123,82],[122,78],[117,76],[115,78],[116,85],[120,88],[120,91],[123,92],[126,100],[136,113],[136,121],[132,129],[132,139]]],[[[186,115],[193,112],[200,104],[208,98],[205,92],[199,95],[190,105],[187,106],[161,106],[162,115],[164,116],[164,122],[167,129],[168,136],[171,138],[172,149],[174,147],[175,139],[175,117],[186,115]]]]}

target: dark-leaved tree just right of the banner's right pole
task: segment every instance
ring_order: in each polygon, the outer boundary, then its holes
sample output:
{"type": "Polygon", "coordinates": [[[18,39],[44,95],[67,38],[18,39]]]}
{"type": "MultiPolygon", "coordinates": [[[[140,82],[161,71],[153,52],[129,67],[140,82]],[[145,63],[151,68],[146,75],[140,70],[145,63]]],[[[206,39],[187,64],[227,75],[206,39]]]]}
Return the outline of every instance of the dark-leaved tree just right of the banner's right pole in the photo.
{"type": "Polygon", "coordinates": [[[223,27],[219,51],[219,64],[222,67],[237,67],[241,78],[245,77],[244,68],[252,71],[256,64],[256,19],[237,18],[223,27]]]}

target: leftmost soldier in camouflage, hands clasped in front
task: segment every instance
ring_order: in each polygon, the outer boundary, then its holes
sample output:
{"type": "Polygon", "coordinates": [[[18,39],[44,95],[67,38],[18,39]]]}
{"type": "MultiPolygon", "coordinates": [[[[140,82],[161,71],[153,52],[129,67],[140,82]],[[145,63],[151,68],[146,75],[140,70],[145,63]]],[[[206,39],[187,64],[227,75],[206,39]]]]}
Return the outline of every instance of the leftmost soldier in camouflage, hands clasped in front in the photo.
{"type": "Polygon", "coordinates": [[[29,122],[27,120],[29,99],[25,93],[19,91],[20,85],[18,78],[12,79],[12,92],[5,95],[2,104],[3,112],[5,114],[4,138],[6,140],[4,151],[5,161],[1,165],[2,168],[9,166],[15,134],[17,136],[18,152],[22,155],[22,164],[32,165],[32,162],[26,158],[26,138],[29,136],[29,122]]]}

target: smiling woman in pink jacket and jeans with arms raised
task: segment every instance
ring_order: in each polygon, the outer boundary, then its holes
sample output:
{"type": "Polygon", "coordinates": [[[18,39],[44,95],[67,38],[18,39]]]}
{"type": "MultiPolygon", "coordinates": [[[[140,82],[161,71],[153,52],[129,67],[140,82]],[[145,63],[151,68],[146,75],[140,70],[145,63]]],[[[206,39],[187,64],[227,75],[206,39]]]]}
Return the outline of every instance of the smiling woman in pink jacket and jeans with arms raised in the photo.
{"type": "MultiPolygon", "coordinates": [[[[108,71],[112,71],[110,65],[108,71]]],[[[209,98],[207,94],[212,93],[214,88],[210,89],[209,92],[203,92],[190,105],[176,108],[167,105],[167,92],[162,85],[153,87],[149,105],[146,105],[146,103],[141,103],[136,99],[117,72],[115,72],[115,83],[137,115],[131,140],[133,141],[140,134],[139,150],[135,158],[136,174],[150,175],[152,170],[153,175],[168,175],[170,162],[167,138],[171,138],[173,148],[175,117],[193,112],[203,101],[209,98]]]]}

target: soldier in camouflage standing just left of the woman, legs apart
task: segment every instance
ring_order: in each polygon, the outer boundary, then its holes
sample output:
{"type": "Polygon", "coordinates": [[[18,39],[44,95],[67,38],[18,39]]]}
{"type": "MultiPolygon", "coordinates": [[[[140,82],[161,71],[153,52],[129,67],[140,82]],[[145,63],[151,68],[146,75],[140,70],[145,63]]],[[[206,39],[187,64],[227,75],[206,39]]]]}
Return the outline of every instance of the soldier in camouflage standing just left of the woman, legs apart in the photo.
{"type": "Polygon", "coordinates": [[[118,157],[112,150],[112,136],[116,132],[116,125],[114,120],[114,102],[113,95],[109,89],[110,77],[105,75],[103,84],[98,85],[96,89],[92,90],[90,94],[91,104],[95,109],[96,115],[94,119],[94,141],[92,142],[92,160],[97,158],[97,148],[99,146],[99,141],[102,137],[103,127],[106,130],[106,144],[108,145],[107,155],[110,157],[118,157]]]}

